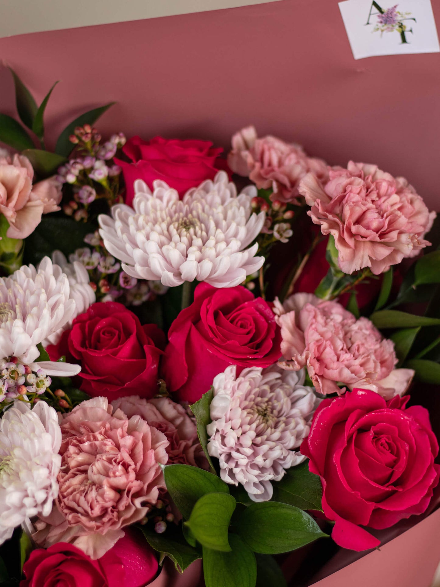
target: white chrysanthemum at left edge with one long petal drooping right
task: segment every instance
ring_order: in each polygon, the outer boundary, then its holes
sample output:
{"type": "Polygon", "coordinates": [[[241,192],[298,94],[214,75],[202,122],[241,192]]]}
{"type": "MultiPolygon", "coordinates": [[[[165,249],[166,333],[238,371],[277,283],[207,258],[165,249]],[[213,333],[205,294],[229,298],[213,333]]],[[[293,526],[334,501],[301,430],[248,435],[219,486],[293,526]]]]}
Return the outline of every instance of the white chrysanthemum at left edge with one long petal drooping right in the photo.
{"type": "Polygon", "coordinates": [[[69,299],[69,279],[49,257],[39,264],[23,265],[0,278],[0,359],[15,356],[46,375],[76,375],[80,368],[67,363],[42,361],[37,345],[57,332],[75,313],[69,299]]]}

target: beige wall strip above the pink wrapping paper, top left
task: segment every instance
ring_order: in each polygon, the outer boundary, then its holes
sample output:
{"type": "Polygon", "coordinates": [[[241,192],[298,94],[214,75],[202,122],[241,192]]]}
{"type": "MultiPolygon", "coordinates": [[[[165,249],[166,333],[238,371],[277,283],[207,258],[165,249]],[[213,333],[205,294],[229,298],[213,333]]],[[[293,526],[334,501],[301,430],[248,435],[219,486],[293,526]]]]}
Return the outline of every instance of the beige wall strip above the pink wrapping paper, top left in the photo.
{"type": "Polygon", "coordinates": [[[279,0],[0,0],[0,37],[279,0]]]}

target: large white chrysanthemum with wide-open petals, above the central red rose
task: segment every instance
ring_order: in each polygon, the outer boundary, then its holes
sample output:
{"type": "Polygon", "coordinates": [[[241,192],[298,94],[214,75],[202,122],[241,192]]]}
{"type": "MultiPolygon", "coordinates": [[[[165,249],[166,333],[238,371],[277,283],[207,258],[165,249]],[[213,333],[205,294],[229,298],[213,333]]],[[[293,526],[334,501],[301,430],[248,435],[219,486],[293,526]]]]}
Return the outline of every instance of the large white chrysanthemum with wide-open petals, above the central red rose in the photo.
{"type": "Polygon", "coordinates": [[[123,261],[128,275],[160,279],[167,286],[197,279],[224,288],[241,284],[263,265],[264,258],[255,257],[258,245],[249,247],[265,221],[264,212],[252,213],[255,186],[237,195],[219,171],[214,181],[188,190],[182,201],[159,180],[153,193],[137,180],[134,192],[134,210],[117,204],[113,218],[99,217],[104,245],[123,261]]]}

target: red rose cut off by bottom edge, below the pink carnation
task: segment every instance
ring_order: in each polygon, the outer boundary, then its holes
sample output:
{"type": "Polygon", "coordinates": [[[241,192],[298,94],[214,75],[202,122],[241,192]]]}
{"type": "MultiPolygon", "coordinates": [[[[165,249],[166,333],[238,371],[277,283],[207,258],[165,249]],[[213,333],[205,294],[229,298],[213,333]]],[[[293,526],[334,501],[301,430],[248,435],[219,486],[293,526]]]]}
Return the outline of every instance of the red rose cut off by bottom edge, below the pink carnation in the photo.
{"type": "Polygon", "coordinates": [[[20,587],[144,587],[157,569],[156,555],[141,532],[126,528],[123,538],[97,561],[67,542],[32,551],[20,587]]]}

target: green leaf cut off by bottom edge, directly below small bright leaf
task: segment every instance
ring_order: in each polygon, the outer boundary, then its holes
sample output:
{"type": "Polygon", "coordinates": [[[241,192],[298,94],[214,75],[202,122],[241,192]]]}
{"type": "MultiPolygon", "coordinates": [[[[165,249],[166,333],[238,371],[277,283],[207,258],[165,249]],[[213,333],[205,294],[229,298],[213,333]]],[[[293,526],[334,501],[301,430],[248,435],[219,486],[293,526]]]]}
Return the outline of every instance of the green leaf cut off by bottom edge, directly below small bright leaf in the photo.
{"type": "MultiPolygon", "coordinates": [[[[255,587],[255,555],[235,534],[229,535],[231,552],[203,547],[203,574],[206,587],[255,587]]],[[[268,583],[266,587],[272,587],[268,583]]],[[[282,587],[282,586],[280,586],[282,587]]]]}

